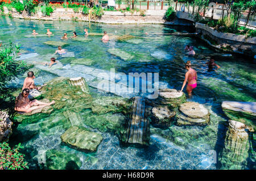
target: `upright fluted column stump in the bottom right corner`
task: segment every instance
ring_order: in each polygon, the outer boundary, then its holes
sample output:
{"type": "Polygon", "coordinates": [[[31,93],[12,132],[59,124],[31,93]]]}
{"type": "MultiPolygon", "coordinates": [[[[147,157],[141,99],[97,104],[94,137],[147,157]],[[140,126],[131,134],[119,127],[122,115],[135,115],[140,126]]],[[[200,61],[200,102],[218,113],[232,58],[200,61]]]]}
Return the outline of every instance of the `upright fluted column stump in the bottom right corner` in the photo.
{"type": "Polygon", "coordinates": [[[228,131],[224,148],[220,153],[220,163],[222,168],[246,169],[251,133],[245,124],[238,121],[229,120],[228,131]]]}

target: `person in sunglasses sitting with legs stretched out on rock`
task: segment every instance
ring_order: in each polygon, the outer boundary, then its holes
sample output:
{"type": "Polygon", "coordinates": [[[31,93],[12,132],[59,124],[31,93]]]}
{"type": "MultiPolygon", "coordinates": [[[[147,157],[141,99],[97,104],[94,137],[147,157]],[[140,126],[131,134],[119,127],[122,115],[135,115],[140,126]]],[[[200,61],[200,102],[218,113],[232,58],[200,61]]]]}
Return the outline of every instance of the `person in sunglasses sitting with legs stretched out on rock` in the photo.
{"type": "Polygon", "coordinates": [[[30,94],[29,89],[23,89],[21,93],[16,97],[15,100],[15,107],[14,110],[18,112],[31,112],[34,110],[38,110],[40,108],[50,106],[51,104],[54,104],[55,101],[53,100],[51,103],[44,103],[40,102],[39,100],[32,100],[28,98],[28,95],[30,94]]]}

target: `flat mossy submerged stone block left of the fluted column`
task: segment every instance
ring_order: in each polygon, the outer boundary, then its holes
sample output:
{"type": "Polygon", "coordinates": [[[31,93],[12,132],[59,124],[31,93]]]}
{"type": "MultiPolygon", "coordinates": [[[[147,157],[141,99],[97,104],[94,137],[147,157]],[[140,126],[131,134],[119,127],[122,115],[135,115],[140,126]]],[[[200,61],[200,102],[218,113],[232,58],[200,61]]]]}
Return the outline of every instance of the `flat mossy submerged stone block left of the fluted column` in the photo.
{"type": "Polygon", "coordinates": [[[101,134],[90,132],[83,127],[73,126],[60,136],[61,141],[82,151],[96,151],[102,141],[101,134]]]}

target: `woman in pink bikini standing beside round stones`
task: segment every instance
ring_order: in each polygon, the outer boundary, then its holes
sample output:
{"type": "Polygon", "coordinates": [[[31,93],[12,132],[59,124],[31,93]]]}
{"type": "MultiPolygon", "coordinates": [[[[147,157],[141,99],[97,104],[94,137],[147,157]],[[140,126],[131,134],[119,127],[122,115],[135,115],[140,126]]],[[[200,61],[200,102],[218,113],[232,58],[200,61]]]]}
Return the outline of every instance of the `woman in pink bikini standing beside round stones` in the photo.
{"type": "Polygon", "coordinates": [[[185,87],[188,81],[187,92],[188,92],[189,98],[191,98],[192,90],[196,88],[197,73],[196,73],[196,70],[191,68],[191,61],[187,61],[187,63],[185,64],[185,69],[187,69],[188,71],[185,74],[183,86],[180,91],[183,90],[183,88],[185,87]]]}

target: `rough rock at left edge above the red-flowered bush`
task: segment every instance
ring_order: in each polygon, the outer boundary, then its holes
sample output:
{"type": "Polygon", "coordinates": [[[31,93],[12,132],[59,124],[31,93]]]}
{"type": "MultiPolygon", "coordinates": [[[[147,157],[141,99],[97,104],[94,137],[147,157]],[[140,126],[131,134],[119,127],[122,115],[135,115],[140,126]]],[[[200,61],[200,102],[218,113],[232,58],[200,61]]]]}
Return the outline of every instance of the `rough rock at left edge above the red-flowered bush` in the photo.
{"type": "Polygon", "coordinates": [[[7,112],[0,111],[0,142],[8,141],[13,130],[11,129],[13,122],[9,119],[7,112]]]}

